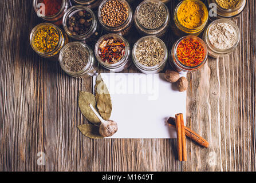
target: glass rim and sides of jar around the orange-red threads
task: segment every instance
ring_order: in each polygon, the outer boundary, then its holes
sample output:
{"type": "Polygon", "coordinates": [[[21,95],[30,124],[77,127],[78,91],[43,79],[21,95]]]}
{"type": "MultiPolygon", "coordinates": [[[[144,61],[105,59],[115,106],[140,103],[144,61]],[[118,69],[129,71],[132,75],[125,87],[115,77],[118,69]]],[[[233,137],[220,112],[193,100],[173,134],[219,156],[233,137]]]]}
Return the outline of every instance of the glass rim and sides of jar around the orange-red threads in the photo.
{"type": "Polygon", "coordinates": [[[169,55],[169,61],[170,61],[170,65],[172,66],[172,68],[175,69],[176,71],[178,71],[179,73],[182,73],[182,74],[184,74],[188,71],[195,71],[195,70],[200,69],[204,65],[204,63],[206,63],[206,60],[207,60],[206,44],[203,42],[202,39],[200,39],[199,37],[196,37],[194,35],[187,35],[185,37],[180,38],[178,41],[176,41],[174,43],[174,45],[172,46],[172,49],[171,49],[170,55],[169,55]],[[177,47],[178,47],[179,43],[185,38],[196,39],[197,41],[199,41],[202,44],[203,49],[205,51],[204,51],[203,61],[199,65],[196,65],[194,67],[190,67],[190,66],[183,65],[183,63],[179,61],[179,58],[178,58],[178,55],[177,55],[177,47]]]}

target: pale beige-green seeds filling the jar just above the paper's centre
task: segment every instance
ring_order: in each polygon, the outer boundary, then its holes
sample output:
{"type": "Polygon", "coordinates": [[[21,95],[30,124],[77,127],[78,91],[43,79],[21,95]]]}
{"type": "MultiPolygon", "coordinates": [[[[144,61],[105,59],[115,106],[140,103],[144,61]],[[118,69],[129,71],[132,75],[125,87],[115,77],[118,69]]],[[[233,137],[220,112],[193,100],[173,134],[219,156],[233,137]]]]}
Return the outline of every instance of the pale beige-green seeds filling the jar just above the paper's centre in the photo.
{"type": "Polygon", "coordinates": [[[163,61],[164,47],[156,39],[144,39],[136,47],[136,58],[145,66],[155,66],[163,61]]]}

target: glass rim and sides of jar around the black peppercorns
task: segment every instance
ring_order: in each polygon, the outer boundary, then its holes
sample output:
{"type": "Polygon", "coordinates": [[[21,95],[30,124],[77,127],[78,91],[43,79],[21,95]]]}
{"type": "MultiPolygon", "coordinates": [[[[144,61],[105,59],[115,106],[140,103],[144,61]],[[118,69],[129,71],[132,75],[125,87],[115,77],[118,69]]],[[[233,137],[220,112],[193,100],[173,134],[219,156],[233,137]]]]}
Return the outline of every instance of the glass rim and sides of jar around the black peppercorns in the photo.
{"type": "Polygon", "coordinates": [[[68,11],[66,11],[63,18],[63,27],[65,32],[71,39],[74,39],[76,41],[82,41],[89,45],[92,43],[96,43],[96,41],[99,39],[102,33],[102,28],[100,27],[99,22],[97,22],[96,16],[94,15],[93,11],[90,10],[88,7],[81,5],[73,6],[70,9],[68,9],[68,11]],[[87,11],[92,17],[92,25],[85,34],[73,35],[72,32],[70,32],[70,30],[68,29],[68,19],[78,11],[87,11]]]}

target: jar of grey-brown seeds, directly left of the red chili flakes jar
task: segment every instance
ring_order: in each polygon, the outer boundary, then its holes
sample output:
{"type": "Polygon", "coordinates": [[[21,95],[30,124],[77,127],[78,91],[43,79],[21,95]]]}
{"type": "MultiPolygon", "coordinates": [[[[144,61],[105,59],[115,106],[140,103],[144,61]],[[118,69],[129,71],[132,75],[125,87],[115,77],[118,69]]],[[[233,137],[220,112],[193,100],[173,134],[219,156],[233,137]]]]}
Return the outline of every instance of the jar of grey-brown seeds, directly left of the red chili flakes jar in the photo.
{"type": "Polygon", "coordinates": [[[61,49],[59,62],[62,70],[72,77],[89,77],[96,73],[93,51],[82,42],[70,42],[61,49]]]}

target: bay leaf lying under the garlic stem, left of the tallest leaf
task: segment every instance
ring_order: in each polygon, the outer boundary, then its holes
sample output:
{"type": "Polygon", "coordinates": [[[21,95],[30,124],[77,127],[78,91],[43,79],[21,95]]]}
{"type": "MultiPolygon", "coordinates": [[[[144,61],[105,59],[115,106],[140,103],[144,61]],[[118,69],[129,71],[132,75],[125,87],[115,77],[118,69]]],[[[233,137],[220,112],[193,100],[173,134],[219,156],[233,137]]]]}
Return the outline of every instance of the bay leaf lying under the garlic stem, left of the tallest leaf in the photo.
{"type": "Polygon", "coordinates": [[[92,106],[96,108],[96,100],[94,95],[88,92],[80,91],[78,105],[81,110],[81,113],[88,121],[92,122],[93,124],[100,125],[100,120],[93,113],[93,110],[90,109],[90,104],[92,104],[92,106]]]}

